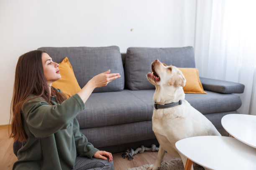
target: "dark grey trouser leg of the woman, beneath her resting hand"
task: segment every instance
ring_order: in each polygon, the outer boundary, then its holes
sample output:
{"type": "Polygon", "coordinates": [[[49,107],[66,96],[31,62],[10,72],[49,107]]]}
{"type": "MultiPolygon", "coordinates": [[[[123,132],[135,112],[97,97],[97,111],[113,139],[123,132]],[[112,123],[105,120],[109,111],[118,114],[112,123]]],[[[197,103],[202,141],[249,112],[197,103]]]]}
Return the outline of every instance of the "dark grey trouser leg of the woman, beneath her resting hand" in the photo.
{"type": "Polygon", "coordinates": [[[108,160],[77,156],[73,170],[114,170],[113,161],[108,160]]]}

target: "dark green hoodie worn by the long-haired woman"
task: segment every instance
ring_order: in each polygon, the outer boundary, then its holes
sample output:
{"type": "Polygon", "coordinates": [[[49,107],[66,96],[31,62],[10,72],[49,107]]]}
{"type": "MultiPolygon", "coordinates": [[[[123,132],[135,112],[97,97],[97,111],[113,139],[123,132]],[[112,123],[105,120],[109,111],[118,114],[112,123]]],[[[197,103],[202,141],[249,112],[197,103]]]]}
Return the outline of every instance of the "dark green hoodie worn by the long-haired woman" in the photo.
{"type": "MultiPolygon", "coordinates": [[[[57,89],[61,92],[59,89],[57,89]]],[[[80,132],[76,115],[84,109],[78,94],[49,105],[42,97],[23,106],[23,128],[28,136],[18,150],[13,170],[71,170],[77,154],[92,156],[98,151],[80,132]]]]}

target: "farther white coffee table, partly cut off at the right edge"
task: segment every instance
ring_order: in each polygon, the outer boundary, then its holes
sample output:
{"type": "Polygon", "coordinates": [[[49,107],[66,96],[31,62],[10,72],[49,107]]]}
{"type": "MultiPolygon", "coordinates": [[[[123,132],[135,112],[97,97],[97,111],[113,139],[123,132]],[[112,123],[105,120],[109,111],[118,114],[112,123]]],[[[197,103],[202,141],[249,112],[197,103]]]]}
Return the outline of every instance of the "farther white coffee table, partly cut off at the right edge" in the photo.
{"type": "MultiPolygon", "coordinates": [[[[223,128],[234,138],[256,148],[256,116],[230,114],[221,119],[223,128]]],[[[256,168],[255,168],[256,169],[256,168]]]]}

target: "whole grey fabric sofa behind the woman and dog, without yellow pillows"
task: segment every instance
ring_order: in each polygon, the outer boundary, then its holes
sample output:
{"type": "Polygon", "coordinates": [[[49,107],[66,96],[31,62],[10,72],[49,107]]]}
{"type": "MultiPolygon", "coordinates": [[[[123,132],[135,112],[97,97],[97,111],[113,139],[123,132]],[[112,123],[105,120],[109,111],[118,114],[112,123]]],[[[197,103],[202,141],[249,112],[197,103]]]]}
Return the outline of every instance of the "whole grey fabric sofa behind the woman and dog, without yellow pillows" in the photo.
{"type": "MultiPolygon", "coordinates": [[[[159,59],[166,65],[195,68],[193,47],[149,48],[129,47],[120,53],[119,47],[41,47],[55,62],[68,57],[74,75],[82,88],[93,76],[111,70],[121,77],[107,86],[96,88],[77,115],[81,132],[100,150],[124,152],[144,145],[159,145],[152,131],[151,117],[155,87],[148,82],[151,62],[159,59]]],[[[227,114],[239,114],[244,85],[200,77],[207,94],[185,95],[185,99],[205,115],[225,136],[221,125],[227,114]]],[[[17,152],[14,143],[14,152],[17,152]]]]}

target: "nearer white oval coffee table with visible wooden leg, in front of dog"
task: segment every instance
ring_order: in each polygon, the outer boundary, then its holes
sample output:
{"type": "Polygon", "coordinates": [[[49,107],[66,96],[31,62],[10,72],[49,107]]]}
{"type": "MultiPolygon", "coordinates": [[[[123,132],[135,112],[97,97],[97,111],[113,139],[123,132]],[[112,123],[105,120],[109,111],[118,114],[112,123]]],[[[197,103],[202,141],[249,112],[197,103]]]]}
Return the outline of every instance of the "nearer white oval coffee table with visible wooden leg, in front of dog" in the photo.
{"type": "Polygon", "coordinates": [[[211,170],[256,170],[256,148],[235,138],[197,136],[179,140],[175,145],[188,158],[187,170],[192,162],[211,170]]]}

